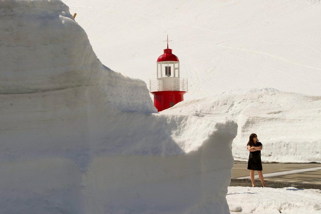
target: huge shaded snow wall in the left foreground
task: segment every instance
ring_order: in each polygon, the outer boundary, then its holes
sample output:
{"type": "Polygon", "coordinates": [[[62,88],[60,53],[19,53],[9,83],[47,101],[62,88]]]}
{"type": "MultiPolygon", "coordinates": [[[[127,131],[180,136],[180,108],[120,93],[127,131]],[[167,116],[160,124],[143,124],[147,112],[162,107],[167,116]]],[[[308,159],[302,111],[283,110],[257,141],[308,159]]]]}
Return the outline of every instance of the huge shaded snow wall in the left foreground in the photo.
{"type": "Polygon", "coordinates": [[[157,114],[61,1],[0,19],[0,213],[229,212],[234,121],[157,114]]]}

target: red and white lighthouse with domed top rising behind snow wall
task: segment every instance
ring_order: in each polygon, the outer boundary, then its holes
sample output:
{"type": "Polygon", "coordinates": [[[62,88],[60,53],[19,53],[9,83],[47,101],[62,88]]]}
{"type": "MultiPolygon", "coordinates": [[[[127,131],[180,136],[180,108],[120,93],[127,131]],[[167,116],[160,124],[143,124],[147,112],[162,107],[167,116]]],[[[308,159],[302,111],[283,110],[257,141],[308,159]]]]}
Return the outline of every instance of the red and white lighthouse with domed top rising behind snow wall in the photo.
{"type": "Polygon", "coordinates": [[[164,49],[157,59],[156,79],[149,80],[149,91],[154,95],[154,106],[158,111],[173,107],[184,100],[188,91],[187,79],[179,77],[179,61],[172,49],[164,49]]]}

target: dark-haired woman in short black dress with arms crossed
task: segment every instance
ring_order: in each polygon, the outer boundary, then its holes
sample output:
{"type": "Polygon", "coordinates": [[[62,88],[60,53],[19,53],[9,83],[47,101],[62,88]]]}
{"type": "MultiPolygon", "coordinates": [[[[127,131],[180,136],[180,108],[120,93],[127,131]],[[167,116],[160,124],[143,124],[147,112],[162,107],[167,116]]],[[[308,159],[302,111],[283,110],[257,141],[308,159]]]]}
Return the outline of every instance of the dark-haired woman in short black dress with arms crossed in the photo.
{"type": "Polygon", "coordinates": [[[250,171],[250,178],[252,181],[252,187],[255,187],[254,183],[254,171],[256,170],[259,174],[259,178],[262,183],[262,187],[265,187],[264,178],[262,175],[262,162],[261,162],[261,150],[263,146],[262,143],[257,140],[256,134],[251,134],[250,139],[247,143],[247,150],[250,151],[250,155],[248,156],[248,164],[247,169],[250,171]]]}

